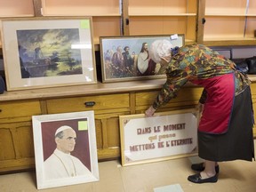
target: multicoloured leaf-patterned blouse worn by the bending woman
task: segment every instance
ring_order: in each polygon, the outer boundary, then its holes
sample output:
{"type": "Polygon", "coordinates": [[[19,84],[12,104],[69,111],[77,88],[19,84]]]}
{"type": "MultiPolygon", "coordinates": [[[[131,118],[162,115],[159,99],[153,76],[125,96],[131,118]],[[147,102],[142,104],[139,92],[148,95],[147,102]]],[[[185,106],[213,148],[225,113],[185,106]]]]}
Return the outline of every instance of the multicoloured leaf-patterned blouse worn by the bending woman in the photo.
{"type": "MultiPolygon", "coordinates": [[[[177,96],[180,88],[188,81],[204,80],[214,76],[235,73],[236,95],[243,92],[251,83],[248,77],[236,70],[236,64],[218,52],[213,51],[203,44],[191,44],[180,47],[172,55],[172,60],[166,68],[166,82],[158,94],[153,108],[157,109],[177,96]]],[[[205,90],[200,102],[204,103],[207,97],[205,90]]]]}

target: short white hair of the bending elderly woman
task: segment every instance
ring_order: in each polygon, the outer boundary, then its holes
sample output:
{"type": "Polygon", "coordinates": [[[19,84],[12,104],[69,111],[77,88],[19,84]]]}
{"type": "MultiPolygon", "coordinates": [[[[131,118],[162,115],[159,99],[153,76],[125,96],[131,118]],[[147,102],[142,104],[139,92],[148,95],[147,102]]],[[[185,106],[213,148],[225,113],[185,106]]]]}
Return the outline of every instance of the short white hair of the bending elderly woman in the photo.
{"type": "Polygon", "coordinates": [[[167,39],[156,40],[150,45],[149,55],[151,60],[156,63],[161,61],[161,58],[171,56],[173,45],[167,39]]]}

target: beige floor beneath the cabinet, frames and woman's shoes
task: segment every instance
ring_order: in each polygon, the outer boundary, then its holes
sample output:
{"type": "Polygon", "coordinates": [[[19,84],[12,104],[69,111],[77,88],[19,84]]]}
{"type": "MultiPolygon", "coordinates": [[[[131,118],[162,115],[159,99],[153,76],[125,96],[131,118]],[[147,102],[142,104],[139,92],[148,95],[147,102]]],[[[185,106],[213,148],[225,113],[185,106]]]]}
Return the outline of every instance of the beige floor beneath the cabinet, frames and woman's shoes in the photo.
{"type": "Polygon", "coordinates": [[[0,176],[1,192],[180,192],[161,190],[178,186],[184,192],[255,192],[256,162],[233,161],[220,163],[217,183],[194,184],[187,180],[194,174],[190,164],[197,157],[122,167],[118,161],[99,164],[100,181],[67,187],[36,189],[36,173],[21,172],[0,176]],[[159,189],[160,188],[160,189],[159,189]]]}

